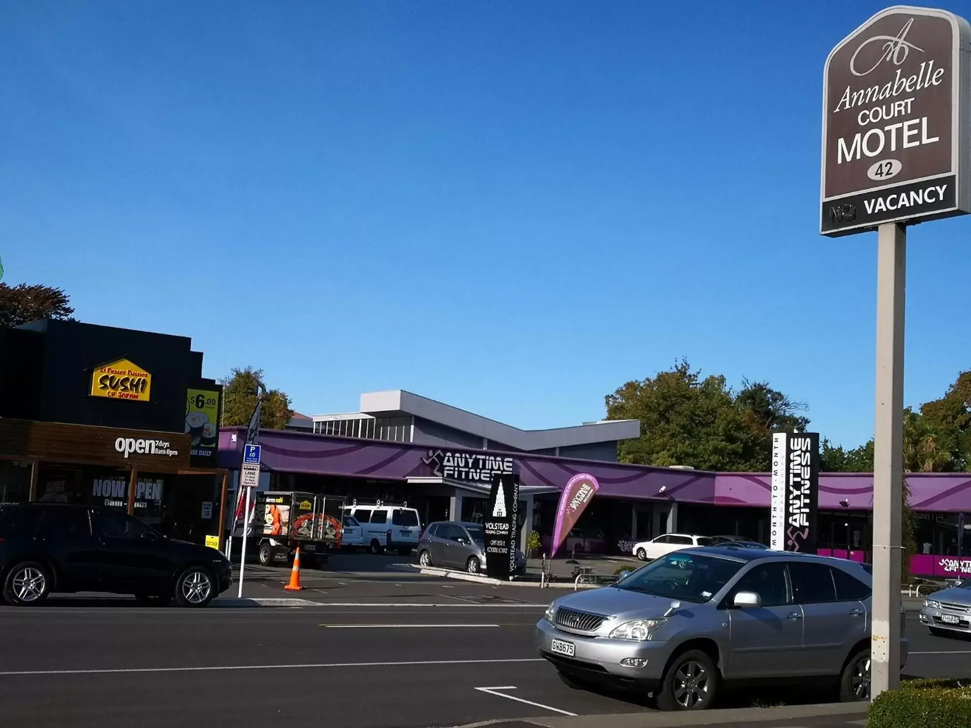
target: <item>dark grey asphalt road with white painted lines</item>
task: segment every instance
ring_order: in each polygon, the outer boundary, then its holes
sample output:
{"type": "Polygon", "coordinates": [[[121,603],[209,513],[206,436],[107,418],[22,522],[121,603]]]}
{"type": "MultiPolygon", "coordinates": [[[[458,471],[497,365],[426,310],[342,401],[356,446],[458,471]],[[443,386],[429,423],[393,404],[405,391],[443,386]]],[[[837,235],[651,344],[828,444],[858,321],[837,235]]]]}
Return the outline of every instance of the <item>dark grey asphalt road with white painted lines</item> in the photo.
{"type": "MultiPolygon", "coordinates": [[[[310,575],[300,597],[318,604],[299,608],[195,611],[105,598],[0,608],[2,725],[427,728],[650,711],[630,696],[571,690],[537,660],[533,625],[562,592],[375,574],[310,575]]],[[[285,595],[285,570],[253,576],[248,592],[285,595]]],[[[971,677],[971,642],[931,637],[916,615],[909,633],[908,674],[971,677]]],[[[731,705],[824,699],[772,691],[731,705]]]]}

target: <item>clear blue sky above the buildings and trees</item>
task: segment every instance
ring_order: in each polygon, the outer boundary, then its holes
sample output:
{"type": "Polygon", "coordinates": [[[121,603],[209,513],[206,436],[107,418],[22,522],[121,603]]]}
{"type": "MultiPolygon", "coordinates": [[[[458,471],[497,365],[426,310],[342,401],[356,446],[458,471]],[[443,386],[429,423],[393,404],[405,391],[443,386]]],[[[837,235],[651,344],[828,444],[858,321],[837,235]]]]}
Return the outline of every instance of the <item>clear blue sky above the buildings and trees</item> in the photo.
{"type": "MultiPolygon", "coordinates": [[[[686,356],[853,446],[876,234],[817,232],[821,75],[885,5],[8,0],[4,281],[307,414],[574,424],[686,356]]],[[[969,225],[909,233],[909,404],[971,367],[969,225]]]]}

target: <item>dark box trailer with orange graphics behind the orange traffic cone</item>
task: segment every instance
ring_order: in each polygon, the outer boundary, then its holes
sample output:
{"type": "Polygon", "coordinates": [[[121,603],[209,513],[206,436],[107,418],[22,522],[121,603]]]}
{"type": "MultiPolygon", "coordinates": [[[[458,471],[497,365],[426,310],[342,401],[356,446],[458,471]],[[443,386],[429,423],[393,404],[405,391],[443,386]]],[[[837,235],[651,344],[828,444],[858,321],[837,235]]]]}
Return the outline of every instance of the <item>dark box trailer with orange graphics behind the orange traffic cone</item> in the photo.
{"type": "Polygon", "coordinates": [[[344,498],[292,490],[264,490],[255,497],[248,539],[261,565],[292,563],[299,547],[300,565],[315,569],[341,547],[344,498]]]}

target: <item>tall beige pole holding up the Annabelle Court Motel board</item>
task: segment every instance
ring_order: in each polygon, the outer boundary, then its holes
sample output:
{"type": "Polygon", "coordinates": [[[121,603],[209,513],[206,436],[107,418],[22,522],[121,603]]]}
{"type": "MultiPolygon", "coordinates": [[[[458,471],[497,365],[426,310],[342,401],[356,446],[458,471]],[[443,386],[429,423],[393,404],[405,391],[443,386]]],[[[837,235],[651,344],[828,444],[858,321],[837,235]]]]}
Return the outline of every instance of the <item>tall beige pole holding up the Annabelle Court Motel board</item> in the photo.
{"type": "Polygon", "coordinates": [[[877,242],[877,386],[873,443],[871,699],[900,684],[903,560],[904,300],[907,231],[880,226],[877,242]]]}

